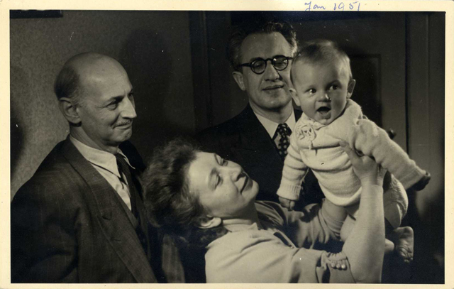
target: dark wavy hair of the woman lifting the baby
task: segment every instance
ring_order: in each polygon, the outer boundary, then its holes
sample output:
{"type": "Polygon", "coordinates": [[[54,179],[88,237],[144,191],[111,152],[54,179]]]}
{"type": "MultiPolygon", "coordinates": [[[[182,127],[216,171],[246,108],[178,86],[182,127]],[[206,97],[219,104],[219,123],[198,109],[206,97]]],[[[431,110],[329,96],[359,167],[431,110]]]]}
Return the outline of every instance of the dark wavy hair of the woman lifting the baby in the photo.
{"type": "Polygon", "coordinates": [[[222,226],[196,227],[204,207],[189,192],[187,172],[196,159],[199,146],[189,138],[176,138],[155,149],[142,176],[144,203],[150,220],[173,236],[177,246],[205,248],[226,234],[222,226]]]}

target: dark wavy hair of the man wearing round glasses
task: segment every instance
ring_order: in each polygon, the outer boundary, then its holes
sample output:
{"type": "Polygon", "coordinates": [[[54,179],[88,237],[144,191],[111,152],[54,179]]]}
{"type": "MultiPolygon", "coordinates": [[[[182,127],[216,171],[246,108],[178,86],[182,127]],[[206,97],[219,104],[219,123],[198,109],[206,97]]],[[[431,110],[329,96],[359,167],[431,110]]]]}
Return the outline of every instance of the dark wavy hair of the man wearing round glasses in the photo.
{"type": "Polygon", "coordinates": [[[292,56],[297,53],[297,32],[290,23],[277,19],[260,19],[258,21],[250,21],[249,23],[242,23],[233,28],[231,38],[228,41],[227,55],[233,70],[240,71],[241,69],[240,50],[246,37],[250,34],[270,34],[273,32],[279,32],[284,36],[292,49],[292,56]]]}

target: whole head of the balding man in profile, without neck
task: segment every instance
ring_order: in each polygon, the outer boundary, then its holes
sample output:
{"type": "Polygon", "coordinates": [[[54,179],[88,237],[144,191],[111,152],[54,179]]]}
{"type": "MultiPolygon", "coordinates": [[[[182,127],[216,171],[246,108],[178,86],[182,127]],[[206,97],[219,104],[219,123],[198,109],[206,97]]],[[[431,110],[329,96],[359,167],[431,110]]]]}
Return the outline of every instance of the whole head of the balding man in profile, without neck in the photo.
{"type": "Polygon", "coordinates": [[[113,58],[83,53],[68,60],[55,82],[71,136],[109,153],[132,135],[135,102],[124,68],[113,58]]]}

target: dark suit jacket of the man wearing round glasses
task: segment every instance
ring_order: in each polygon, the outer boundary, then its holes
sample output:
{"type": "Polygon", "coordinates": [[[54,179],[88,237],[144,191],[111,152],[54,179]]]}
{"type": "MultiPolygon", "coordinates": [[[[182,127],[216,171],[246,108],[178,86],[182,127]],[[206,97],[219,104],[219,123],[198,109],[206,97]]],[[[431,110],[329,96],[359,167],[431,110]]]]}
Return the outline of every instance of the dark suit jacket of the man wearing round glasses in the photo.
{"type": "MultiPolygon", "coordinates": [[[[294,113],[298,120],[301,111],[295,109],[294,113]]],[[[276,192],[280,185],[284,162],[277,153],[274,141],[249,104],[233,119],[201,131],[196,139],[204,151],[218,153],[222,158],[240,164],[250,178],[258,182],[260,192],[257,200],[279,202],[276,192]]],[[[298,207],[320,202],[323,193],[314,174],[306,175],[304,191],[310,193],[300,197],[298,207]]]]}

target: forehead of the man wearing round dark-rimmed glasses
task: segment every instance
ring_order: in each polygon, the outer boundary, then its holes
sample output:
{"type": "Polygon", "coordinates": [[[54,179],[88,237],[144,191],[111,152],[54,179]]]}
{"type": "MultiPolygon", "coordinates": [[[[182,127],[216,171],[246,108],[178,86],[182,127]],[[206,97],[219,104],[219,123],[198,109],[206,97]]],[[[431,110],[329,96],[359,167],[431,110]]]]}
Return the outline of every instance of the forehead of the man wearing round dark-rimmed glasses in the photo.
{"type": "Polygon", "coordinates": [[[270,58],[275,55],[291,56],[289,43],[279,32],[253,33],[243,40],[240,47],[242,60],[270,58]]]}

